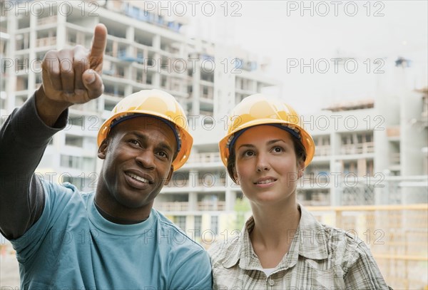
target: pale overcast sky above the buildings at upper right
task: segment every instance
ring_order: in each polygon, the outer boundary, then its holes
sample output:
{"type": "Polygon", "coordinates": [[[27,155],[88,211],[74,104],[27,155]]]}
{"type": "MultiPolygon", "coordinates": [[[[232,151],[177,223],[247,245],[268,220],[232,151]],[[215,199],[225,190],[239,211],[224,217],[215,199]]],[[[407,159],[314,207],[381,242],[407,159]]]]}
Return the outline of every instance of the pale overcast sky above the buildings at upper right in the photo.
{"type": "Polygon", "coordinates": [[[282,90],[268,92],[311,113],[339,100],[394,91],[399,56],[412,61],[409,87],[427,86],[427,3],[220,1],[213,16],[207,16],[209,6],[205,13],[195,9],[193,33],[270,58],[266,75],[282,90]],[[351,59],[345,66],[332,58],[351,59]]]}

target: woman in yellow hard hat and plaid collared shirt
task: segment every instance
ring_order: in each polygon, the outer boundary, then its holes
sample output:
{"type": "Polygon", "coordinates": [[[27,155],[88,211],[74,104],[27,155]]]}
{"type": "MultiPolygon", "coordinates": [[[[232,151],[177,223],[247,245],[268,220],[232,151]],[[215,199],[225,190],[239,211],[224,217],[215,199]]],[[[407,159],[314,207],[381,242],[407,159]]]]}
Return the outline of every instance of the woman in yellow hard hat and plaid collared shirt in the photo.
{"type": "Polygon", "coordinates": [[[220,155],[250,201],[239,237],[209,249],[214,289],[388,289],[367,246],[297,203],[315,144],[296,111],[250,95],[230,113],[220,155]]]}

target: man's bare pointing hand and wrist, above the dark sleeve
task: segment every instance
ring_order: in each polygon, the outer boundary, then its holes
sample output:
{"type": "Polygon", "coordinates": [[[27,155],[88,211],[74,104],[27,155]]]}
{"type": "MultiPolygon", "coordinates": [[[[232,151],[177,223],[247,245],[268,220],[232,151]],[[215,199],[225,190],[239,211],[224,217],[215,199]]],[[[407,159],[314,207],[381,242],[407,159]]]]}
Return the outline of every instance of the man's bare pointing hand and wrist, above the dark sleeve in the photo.
{"type": "Polygon", "coordinates": [[[98,24],[91,51],[75,46],[46,53],[42,63],[43,84],[36,92],[37,113],[46,125],[53,125],[71,105],[86,103],[103,93],[100,74],[106,36],[106,26],[98,24]]]}

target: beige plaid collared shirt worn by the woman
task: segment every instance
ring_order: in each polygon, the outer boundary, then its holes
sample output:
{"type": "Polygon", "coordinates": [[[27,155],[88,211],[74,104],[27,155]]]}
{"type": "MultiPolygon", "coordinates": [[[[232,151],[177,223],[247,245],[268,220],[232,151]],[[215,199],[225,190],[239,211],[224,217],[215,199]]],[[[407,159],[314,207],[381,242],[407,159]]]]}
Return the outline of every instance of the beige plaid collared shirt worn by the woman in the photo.
{"type": "Polygon", "coordinates": [[[290,249],[266,276],[253,251],[250,232],[254,219],[245,223],[243,234],[209,249],[213,289],[388,289],[370,250],[360,239],[317,222],[300,206],[297,231],[290,232],[290,249]]]}

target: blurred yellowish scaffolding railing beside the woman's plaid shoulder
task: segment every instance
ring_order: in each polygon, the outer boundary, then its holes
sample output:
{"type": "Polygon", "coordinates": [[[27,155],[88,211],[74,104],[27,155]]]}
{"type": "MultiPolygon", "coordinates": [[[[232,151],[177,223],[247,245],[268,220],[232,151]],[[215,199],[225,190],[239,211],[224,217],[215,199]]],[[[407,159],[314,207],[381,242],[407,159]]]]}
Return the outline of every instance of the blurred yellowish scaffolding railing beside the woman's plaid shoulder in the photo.
{"type": "Polygon", "coordinates": [[[307,209],[362,239],[393,289],[428,289],[428,204],[307,209]]]}

